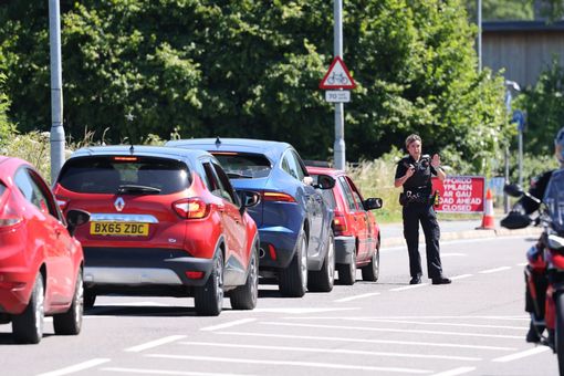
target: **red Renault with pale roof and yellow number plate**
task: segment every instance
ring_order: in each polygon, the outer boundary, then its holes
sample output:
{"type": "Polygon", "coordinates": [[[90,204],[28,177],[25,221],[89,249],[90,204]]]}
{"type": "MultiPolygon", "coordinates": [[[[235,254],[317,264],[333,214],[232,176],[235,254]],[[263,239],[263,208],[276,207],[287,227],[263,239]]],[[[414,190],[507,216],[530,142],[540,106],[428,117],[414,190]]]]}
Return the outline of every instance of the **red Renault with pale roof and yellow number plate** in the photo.
{"type": "Polygon", "coordinates": [[[84,247],[84,302],[96,295],[194,296],[200,315],[219,315],[258,297],[259,236],[247,208],[207,152],[101,146],[73,153],[54,188],[66,212],[91,213],[77,229],[84,247]]]}

